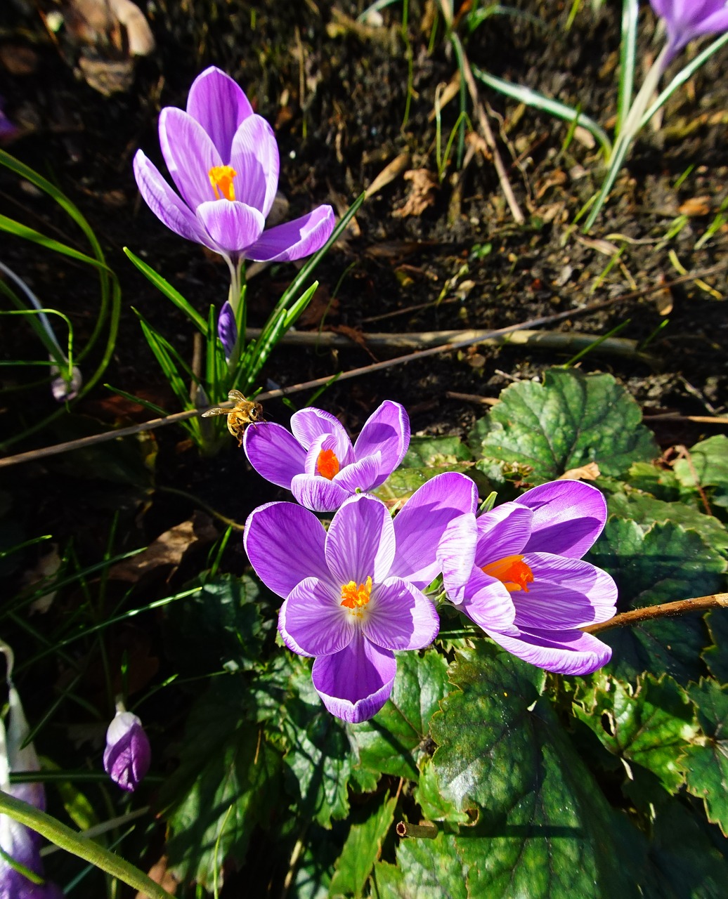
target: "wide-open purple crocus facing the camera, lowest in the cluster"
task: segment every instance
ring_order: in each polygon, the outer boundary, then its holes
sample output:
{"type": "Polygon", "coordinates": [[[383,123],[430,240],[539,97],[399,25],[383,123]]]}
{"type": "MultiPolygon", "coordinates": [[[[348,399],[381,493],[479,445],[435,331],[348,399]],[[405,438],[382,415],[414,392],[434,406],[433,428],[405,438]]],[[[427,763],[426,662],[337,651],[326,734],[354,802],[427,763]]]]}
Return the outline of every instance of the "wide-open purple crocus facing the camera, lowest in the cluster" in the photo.
{"type": "Polygon", "coordinates": [[[437,475],[394,519],[368,494],[346,500],[328,528],[295,503],[251,512],[245,547],[261,581],[284,598],[278,630],[313,656],[313,686],[328,711],[356,723],[390,696],[394,650],[420,649],[439,620],[422,592],[439,572],[436,547],[450,521],[474,512],[472,481],[437,475]]]}

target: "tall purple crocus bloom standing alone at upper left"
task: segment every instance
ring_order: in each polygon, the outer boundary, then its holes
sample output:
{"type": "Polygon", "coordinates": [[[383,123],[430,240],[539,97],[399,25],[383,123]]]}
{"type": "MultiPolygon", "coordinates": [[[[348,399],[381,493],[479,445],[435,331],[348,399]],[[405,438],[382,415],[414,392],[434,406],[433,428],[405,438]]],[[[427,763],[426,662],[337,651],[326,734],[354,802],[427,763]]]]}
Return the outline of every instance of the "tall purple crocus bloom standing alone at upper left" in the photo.
{"type": "Polygon", "coordinates": [[[186,112],[162,110],[159,141],[181,197],[139,150],[134,174],[142,197],[175,234],[209,247],[231,265],[241,259],[301,259],[331,235],[330,206],[264,230],[278,186],[278,147],[271,126],[219,68],[195,78],[186,112]]]}

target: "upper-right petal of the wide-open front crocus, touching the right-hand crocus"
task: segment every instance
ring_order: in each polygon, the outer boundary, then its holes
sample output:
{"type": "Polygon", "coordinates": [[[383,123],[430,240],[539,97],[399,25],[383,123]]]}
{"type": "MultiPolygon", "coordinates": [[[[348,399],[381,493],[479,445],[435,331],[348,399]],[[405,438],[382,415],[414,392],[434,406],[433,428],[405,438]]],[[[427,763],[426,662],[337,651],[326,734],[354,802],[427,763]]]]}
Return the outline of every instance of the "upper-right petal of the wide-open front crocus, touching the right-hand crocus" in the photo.
{"type": "Polygon", "coordinates": [[[474,483],[459,472],[436,475],[419,487],[394,520],[397,554],[390,576],[427,587],[439,573],[436,553],[447,525],[465,512],[475,512],[477,502],[474,483]]]}

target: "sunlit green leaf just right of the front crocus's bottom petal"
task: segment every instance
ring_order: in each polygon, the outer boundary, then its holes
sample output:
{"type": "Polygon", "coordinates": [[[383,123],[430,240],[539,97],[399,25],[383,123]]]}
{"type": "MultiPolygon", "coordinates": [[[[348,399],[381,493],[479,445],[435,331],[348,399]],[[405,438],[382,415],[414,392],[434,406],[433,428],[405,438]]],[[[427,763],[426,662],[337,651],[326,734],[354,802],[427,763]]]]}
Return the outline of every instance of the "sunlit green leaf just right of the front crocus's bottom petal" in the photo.
{"type": "MultiPolygon", "coordinates": [[[[349,725],[359,767],[417,780],[417,761],[425,752],[430,718],[447,690],[447,663],[434,649],[397,654],[391,699],[371,721],[349,725]]],[[[358,777],[357,777],[358,779],[358,777]]]]}

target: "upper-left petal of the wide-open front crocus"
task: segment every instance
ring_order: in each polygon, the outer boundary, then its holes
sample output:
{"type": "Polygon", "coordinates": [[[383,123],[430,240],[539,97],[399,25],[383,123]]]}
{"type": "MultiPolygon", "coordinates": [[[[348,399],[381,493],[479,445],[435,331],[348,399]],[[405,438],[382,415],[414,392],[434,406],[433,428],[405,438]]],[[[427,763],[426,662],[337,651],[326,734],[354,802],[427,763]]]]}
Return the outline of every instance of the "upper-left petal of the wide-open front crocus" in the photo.
{"type": "Polygon", "coordinates": [[[326,531],[295,503],[267,503],[247,516],[243,542],[265,586],[285,598],[307,577],[330,581],[324,555],[326,531]]]}

